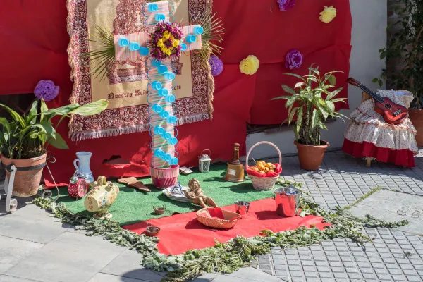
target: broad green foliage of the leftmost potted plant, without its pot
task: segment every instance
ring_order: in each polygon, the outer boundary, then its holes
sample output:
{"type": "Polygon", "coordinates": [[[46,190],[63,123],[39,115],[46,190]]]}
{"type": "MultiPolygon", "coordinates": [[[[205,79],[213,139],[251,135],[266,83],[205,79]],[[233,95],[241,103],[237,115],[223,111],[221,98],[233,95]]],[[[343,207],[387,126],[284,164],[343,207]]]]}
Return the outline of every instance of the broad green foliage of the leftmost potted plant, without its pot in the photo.
{"type": "Polygon", "coordinates": [[[30,159],[45,154],[49,144],[58,149],[68,149],[63,137],[56,132],[63,118],[71,114],[99,114],[108,104],[109,102],[102,99],[83,106],[71,104],[48,109],[44,100],[35,99],[29,113],[22,116],[8,106],[0,104],[11,116],[11,122],[0,118],[0,152],[10,159],[30,159]],[[61,116],[56,126],[51,121],[55,116],[61,116]]]}

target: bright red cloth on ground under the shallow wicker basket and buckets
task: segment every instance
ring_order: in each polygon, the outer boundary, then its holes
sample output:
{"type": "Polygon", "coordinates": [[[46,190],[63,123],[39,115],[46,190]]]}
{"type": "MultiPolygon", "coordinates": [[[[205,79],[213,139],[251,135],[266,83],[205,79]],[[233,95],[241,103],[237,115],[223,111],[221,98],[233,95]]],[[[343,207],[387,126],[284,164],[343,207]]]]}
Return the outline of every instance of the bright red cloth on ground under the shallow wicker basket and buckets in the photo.
{"type": "MultiPolygon", "coordinates": [[[[226,206],[222,209],[235,212],[235,206],[226,206]]],[[[320,216],[300,216],[283,217],[276,214],[275,200],[269,198],[252,202],[247,219],[240,219],[234,228],[212,229],[202,225],[197,221],[195,212],[187,214],[176,214],[162,217],[161,219],[151,219],[149,221],[135,223],[123,228],[143,233],[147,223],[158,226],[160,232],[159,252],[165,255],[179,255],[187,250],[204,249],[212,247],[218,240],[220,243],[227,242],[237,235],[250,238],[259,235],[262,230],[273,232],[293,230],[300,226],[310,227],[312,224],[319,229],[329,226],[329,223],[322,223],[320,216]]]]}

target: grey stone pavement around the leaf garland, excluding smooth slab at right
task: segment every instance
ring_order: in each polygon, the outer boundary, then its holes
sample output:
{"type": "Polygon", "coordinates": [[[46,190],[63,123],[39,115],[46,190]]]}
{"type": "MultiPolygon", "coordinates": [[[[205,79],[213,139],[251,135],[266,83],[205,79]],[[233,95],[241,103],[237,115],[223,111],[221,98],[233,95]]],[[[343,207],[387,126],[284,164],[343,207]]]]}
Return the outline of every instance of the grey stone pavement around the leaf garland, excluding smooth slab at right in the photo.
{"type": "MultiPolygon", "coordinates": [[[[423,154],[416,163],[412,169],[379,163],[366,168],[364,160],[328,152],[315,172],[300,170],[297,157],[283,157],[283,176],[304,183],[315,202],[334,209],[376,186],[422,197],[423,154]]],[[[0,282],[155,282],[164,276],[142,269],[136,252],[56,222],[30,200],[19,199],[13,214],[0,201],[0,282]]],[[[366,250],[345,239],[275,248],[252,267],[197,281],[423,281],[423,237],[384,228],[366,232],[375,237],[366,250]]]]}

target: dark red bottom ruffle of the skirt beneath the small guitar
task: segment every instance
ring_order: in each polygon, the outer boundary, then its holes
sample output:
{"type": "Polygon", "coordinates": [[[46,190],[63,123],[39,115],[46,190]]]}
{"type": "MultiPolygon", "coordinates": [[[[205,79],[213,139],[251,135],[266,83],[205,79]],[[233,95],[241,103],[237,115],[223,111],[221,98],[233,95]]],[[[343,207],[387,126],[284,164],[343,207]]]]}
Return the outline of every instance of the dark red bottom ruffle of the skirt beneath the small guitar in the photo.
{"type": "Polygon", "coordinates": [[[353,157],[371,157],[384,163],[393,163],[398,166],[415,167],[414,152],[408,149],[394,150],[389,148],[376,147],[369,142],[352,142],[344,138],[343,152],[353,155],[353,157]]]}

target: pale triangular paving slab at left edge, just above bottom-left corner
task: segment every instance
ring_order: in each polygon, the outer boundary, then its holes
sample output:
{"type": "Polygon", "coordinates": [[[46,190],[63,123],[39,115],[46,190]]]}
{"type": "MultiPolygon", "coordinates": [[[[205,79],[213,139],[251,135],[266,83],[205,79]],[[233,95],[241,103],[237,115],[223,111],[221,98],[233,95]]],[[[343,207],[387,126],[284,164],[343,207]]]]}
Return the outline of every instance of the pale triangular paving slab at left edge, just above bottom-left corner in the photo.
{"type": "Polygon", "coordinates": [[[0,236],[0,274],[42,246],[39,243],[0,236]]]}

